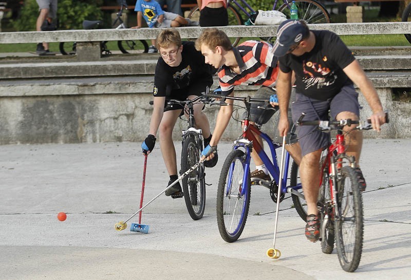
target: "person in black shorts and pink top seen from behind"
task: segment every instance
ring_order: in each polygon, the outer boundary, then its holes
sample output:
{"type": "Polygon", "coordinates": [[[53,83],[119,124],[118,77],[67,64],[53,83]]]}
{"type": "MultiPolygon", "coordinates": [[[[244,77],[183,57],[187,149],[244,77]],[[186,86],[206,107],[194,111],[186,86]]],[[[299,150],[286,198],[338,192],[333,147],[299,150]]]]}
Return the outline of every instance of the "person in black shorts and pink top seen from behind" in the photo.
{"type": "Polygon", "coordinates": [[[227,0],[197,0],[200,26],[227,26],[227,0]]]}

